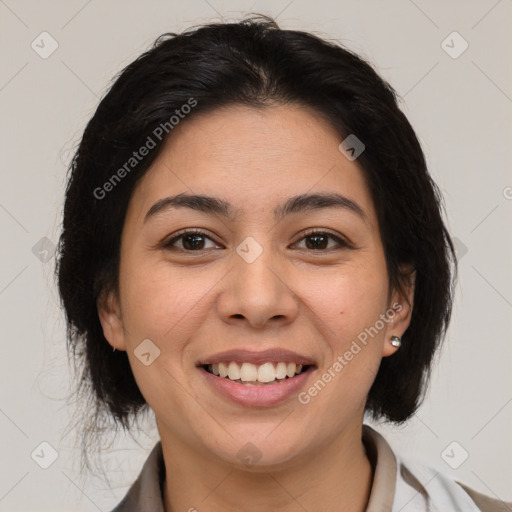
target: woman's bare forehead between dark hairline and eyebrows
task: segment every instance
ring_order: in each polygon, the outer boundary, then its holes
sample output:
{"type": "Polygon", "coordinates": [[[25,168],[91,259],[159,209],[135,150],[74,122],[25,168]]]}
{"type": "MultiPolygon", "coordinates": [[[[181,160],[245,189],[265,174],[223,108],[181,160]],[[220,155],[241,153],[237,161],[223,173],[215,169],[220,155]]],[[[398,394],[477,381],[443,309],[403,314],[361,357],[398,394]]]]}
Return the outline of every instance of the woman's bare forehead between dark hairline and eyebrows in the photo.
{"type": "Polygon", "coordinates": [[[194,114],[173,129],[133,199],[147,210],[179,193],[217,196],[240,218],[274,211],[291,196],[334,192],[371,218],[363,172],[339,151],[341,140],[319,114],[298,105],[194,114]]]}

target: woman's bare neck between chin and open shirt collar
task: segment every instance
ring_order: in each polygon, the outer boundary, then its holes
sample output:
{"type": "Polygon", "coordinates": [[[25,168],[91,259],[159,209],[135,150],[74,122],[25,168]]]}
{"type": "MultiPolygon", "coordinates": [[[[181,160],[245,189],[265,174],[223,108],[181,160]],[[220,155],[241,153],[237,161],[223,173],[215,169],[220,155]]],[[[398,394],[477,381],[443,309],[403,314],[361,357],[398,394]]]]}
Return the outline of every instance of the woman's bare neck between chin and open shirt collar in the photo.
{"type": "Polygon", "coordinates": [[[165,511],[364,512],[373,470],[361,432],[359,424],[303,460],[258,472],[204,457],[161,432],[165,511]]]}

